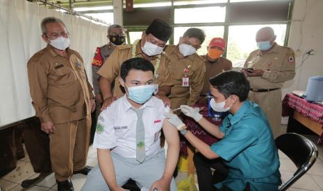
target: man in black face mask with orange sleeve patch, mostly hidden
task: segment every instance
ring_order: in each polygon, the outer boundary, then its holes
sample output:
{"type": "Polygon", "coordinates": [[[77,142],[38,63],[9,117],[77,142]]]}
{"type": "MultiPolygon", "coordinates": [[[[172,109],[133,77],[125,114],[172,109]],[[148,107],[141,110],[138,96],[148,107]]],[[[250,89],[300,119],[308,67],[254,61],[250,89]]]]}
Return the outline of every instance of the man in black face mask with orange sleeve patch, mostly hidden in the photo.
{"type": "MultiPolygon", "coordinates": [[[[99,87],[100,75],[97,73],[97,71],[99,71],[103,63],[106,62],[113,50],[117,46],[122,45],[126,42],[125,30],[122,26],[118,24],[113,24],[109,26],[108,35],[106,37],[108,37],[109,40],[108,44],[103,45],[101,47],[97,47],[92,61],[92,83],[95,95],[95,103],[97,107],[95,109],[94,115],[92,116],[90,143],[93,142],[95,126],[97,125],[97,118],[101,111],[101,104],[103,102],[99,87]]],[[[114,82],[112,85],[114,85],[114,82]]]]}

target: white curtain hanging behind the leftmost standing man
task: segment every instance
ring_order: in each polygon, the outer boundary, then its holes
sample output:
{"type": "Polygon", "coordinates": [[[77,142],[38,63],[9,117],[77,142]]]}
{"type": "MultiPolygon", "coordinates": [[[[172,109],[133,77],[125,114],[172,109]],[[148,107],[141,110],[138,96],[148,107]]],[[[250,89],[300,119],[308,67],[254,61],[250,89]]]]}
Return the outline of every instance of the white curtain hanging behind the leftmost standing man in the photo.
{"type": "Polygon", "coordinates": [[[58,17],[65,22],[71,34],[70,48],[81,54],[92,81],[90,63],[95,48],[107,41],[107,26],[26,0],[0,0],[0,127],[35,115],[26,64],[46,46],[40,30],[44,17],[58,17]]]}

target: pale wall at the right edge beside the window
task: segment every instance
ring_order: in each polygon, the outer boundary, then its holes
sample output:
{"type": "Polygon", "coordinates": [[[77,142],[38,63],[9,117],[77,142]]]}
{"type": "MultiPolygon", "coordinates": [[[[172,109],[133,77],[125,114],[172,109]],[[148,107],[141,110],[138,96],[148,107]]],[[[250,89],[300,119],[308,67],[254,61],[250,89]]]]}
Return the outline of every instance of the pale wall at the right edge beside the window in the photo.
{"type": "Polygon", "coordinates": [[[295,50],[296,67],[299,68],[295,78],[285,82],[283,96],[293,90],[305,91],[308,78],[323,75],[322,0],[295,0],[288,46],[295,50]],[[315,55],[310,55],[300,66],[302,55],[312,49],[315,55]]]}

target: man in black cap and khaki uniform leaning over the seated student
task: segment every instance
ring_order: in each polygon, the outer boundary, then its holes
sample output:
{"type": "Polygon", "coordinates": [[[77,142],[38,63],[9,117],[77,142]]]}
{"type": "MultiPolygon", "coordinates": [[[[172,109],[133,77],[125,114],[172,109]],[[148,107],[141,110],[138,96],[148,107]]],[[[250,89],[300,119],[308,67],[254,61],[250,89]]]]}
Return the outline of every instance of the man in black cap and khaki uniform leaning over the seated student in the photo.
{"type": "Polygon", "coordinates": [[[101,109],[106,109],[111,102],[124,95],[124,89],[120,86],[121,64],[132,57],[144,57],[155,66],[155,80],[158,83],[158,94],[156,97],[170,104],[167,94],[172,85],[172,73],[169,66],[169,58],[163,53],[163,48],[169,37],[172,35],[172,27],[164,21],[155,19],[142,33],[142,38],[136,40],[133,45],[125,44],[117,46],[108,60],[98,71],[101,78],[99,80],[100,90],[103,96],[103,105],[101,109]],[[111,89],[111,82],[115,80],[115,87],[111,89]]]}

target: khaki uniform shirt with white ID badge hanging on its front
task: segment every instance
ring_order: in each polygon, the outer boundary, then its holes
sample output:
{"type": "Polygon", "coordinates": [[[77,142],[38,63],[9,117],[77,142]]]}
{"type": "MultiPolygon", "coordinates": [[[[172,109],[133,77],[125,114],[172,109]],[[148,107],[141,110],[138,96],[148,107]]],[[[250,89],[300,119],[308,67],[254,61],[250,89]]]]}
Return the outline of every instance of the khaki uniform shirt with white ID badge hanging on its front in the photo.
{"type": "MultiPolygon", "coordinates": [[[[170,58],[172,83],[174,84],[169,99],[177,100],[174,98],[181,98],[181,103],[185,102],[185,104],[192,106],[199,100],[199,95],[203,88],[205,73],[204,59],[196,53],[188,57],[182,57],[181,53],[179,53],[178,45],[167,45],[165,53],[167,53],[170,58]],[[189,78],[189,87],[183,87],[184,69],[188,66],[190,66],[187,75],[189,78]]],[[[176,104],[176,102],[177,101],[175,101],[174,104],[176,104]]],[[[179,105],[172,105],[172,108],[175,107],[179,107],[179,105]]]]}

